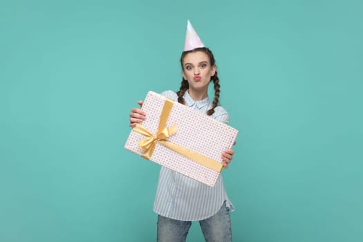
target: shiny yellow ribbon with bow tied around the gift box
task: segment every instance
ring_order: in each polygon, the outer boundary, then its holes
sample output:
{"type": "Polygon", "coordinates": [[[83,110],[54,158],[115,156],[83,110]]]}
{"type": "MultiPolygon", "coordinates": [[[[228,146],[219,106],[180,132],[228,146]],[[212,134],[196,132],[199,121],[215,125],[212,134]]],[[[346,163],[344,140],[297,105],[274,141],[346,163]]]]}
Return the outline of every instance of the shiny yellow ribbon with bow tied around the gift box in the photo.
{"type": "Polygon", "coordinates": [[[193,160],[198,164],[204,165],[205,167],[208,167],[210,169],[214,169],[214,171],[221,172],[223,165],[220,162],[213,160],[212,158],[209,158],[207,156],[203,156],[200,153],[196,153],[190,149],[186,149],[184,147],[175,145],[174,143],[167,141],[167,138],[176,133],[176,124],[174,124],[169,128],[165,127],[171,109],[173,107],[173,104],[174,102],[172,100],[167,99],[165,101],[160,114],[159,127],[156,136],[154,136],[141,124],[136,124],[136,127],[133,128],[133,131],[136,131],[144,136],[147,136],[147,138],[140,140],[138,142],[138,146],[143,151],[141,156],[147,160],[150,160],[151,156],[153,155],[153,151],[156,147],[156,142],[159,142],[160,144],[165,145],[165,147],[168,147],[169,149],[175,151],[176,153],[179,153],[180,155],[185,156],[186,158],[189,158],[190,160],[193,160]]]}

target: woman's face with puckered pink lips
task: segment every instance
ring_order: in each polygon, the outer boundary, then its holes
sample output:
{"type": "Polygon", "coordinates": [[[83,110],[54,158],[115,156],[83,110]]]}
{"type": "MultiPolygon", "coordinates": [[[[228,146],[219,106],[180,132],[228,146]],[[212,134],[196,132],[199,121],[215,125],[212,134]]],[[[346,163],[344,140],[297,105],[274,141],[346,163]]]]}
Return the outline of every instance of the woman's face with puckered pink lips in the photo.
{"type": "Polygon", "coordinates": [[[216,66],[210,65],[210,58],[202,51],[191,52],[183,59],[183,77],[193,91],[207,91],[216,66]]]}

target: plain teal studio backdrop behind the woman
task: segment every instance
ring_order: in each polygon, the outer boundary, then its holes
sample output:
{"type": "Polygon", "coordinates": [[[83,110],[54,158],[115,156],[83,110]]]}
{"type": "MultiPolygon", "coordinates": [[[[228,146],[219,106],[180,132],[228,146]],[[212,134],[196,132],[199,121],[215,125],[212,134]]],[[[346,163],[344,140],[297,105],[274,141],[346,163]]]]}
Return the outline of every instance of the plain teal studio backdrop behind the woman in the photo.
{"type": "MultiPolygon", "coordinates": [[[[363,241],[362,1],[1,1],[0,241],[156,241],[160,167],[124,149],[179,87],[187,19],[240,130],[234,241],[363,241]]],[[[197,223],[187,241],[203,241],[197,223]]]]}

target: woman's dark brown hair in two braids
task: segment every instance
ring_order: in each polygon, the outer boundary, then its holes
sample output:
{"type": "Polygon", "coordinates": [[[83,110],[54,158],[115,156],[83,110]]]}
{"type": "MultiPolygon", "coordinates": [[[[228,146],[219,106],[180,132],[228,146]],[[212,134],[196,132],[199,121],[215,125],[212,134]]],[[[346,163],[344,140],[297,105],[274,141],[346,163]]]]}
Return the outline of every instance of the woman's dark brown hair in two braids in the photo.
{"type": "MultiPolygon", "coordinates": [[[[194,48],[193,50],[187,50],[187,51],[183,51],[181,57],[180,57],[180,64],[182,66],[182,70],[184,69],[183,66],[183,59],[185,57],[185,55],[189,54],[189,53],[194,53],[194,52],[198,52],[201,51],[205,54],[207,54],[207,56],[210,58],[210,65],[211,66],[216,66],[216,60],[214,59],[214,55],[212,53],[212,51],[207,48],[207,47],[199,47],[199,48],[194,48]]],[[[207,115],[212,115],[214,113],[214,108],[216,106],[218,106],[218,102],[219,102],[219,94],[221,93],[221,86],[219,85],[219,78],[218,78],[218,74],[217,71],[216,73],[214,73],[214,75],[211,77],[213,83],[214,83],[214,100],[212,102],[212,109],[207,111],[207,115]]],[[[180,89],[179,91],[176,92],[176,94],[178,95],[178,102],[181,104],[185,104],[185,100],[183,98],[183,95],[185,94],[185,92],[189,89],[189,84],[188,81],[184,79],[180,84],[180,89]]]]}

